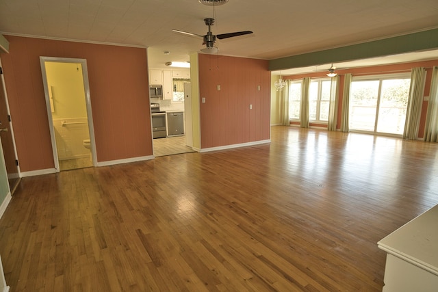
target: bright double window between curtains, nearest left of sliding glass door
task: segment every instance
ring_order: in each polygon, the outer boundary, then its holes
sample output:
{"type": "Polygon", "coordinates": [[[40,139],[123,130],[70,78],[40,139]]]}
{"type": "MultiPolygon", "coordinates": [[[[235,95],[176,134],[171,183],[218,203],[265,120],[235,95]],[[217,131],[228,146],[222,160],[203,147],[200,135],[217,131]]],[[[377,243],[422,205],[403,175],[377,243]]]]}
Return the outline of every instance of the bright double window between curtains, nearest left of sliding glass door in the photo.
{"type": "Polygon", "coordinates": [[[330,79],[315,79],[309,88],[309,120],[324,122],[329,120],[330,79]]]}

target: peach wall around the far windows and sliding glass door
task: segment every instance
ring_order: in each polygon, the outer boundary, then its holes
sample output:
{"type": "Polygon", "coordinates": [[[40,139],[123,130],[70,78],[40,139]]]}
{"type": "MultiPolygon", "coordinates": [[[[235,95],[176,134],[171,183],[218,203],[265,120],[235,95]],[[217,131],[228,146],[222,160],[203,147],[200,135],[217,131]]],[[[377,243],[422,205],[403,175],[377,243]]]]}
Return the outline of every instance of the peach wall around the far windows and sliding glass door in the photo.
{"type": "MultiPolygon", "coordinates": [[[[382,65],[382,66],[370,66],[363,68],[351,68],[345,70],[336,70],[336,72],[341,76],[339,80],[339,103],[338,103],[338,112],[337,112],[337,129],[339,129],[339,125],[341,124],[341,113],[342,113],[342,95],[344,94],[344,75],[347,73],[352,73],[354,76],[366,76],[366,75],[382,75],[382,74],[391,74],[398,72],[411,72],[412,68],[415,67],[424,67],[426,68],[426,85],[424,87],[423,96],[429,96],[430,92],[430,80],[432,78],[432,68],[433,66],[438,66],[438,59],[431,61],[423,61],[423,62],[411,62],[411,63],[403,63],[403,64],[391,64],[391,65],[382,65]]],[[[300,75],[289,75],[283,76],[283,79],[302,79],[304,77],[311,78],[322,78],[326,77],[326,72],[315,72],[311,74],[300,74],[300,75]]],[[[420,129],[418,131],[418,137],[422,138],[424,135],[424,123],[426,122],[426,114],[427,114],[428,101],[423,101],[422,105],[422,114],[420,118],[420,129]]],[[[310,124],[314,127],[320,127],[320,124],[310,124]]]]}

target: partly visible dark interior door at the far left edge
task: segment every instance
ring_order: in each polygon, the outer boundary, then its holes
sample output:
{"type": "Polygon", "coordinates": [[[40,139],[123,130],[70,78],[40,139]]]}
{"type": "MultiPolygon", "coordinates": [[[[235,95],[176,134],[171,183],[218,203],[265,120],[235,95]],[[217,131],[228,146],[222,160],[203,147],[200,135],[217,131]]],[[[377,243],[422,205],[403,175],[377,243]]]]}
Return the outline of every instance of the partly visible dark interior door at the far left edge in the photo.
{"type": "MultiPolygon", "coordinates": [[[[0,61],[1,70],[1,61],[0,61]]],[[[8,95],[6,94],[5,79],[1,72],[1,88],[0,88],[0,139],[5,157],[6,172],[8,173],[8,181],[11,194],[14,193],[16,186],[20,182],[18,159],[16,158],[14,132],[12,129],[12,120],[9,111],[8,95]]]]}

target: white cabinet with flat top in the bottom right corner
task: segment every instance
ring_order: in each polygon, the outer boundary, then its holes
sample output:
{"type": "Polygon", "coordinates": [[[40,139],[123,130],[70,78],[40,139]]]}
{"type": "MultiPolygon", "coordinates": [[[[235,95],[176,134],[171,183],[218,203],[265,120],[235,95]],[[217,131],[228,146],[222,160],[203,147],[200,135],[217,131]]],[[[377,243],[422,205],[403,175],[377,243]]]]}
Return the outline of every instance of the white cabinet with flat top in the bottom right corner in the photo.
{"type": "Polygon", "coordinates": [[[383,292],[435,292],[438,287],[438,205],[378,241],[387,252],[383,292]]]}

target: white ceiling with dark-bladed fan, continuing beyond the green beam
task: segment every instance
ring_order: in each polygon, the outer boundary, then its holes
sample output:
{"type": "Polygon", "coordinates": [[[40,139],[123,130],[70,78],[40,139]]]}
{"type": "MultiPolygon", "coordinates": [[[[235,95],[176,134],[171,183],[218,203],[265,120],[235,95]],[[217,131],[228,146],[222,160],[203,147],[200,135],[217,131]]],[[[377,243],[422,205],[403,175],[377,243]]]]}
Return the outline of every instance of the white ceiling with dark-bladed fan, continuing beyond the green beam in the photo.
{"type": "MultiPolygon", "coordinates": [[[[216,18],[214,34],[254,32],[217,40],[221,55],[276,59],[437,28],[438,1],[229,0],[214,9],[198,0],[0,0],[2,34],[148,47],[151,68],[188,61],[190,53],[203,48],[201,38],[172,29],[206,34],[207,17],[216,18]]],[[[367,59],[359,66],[438,57],[436,51],[426,54],[367,59]]]]}

